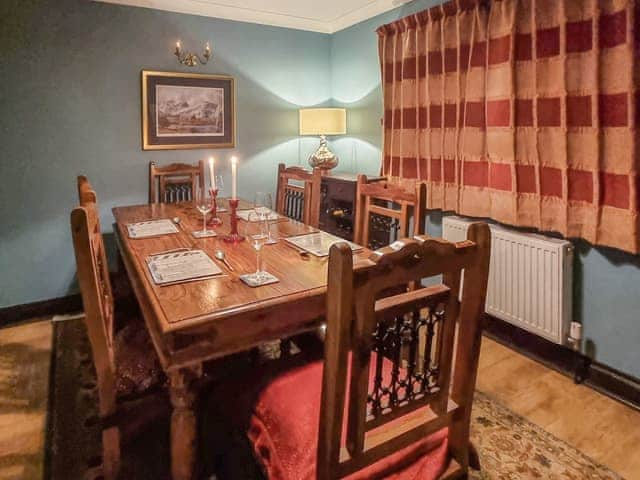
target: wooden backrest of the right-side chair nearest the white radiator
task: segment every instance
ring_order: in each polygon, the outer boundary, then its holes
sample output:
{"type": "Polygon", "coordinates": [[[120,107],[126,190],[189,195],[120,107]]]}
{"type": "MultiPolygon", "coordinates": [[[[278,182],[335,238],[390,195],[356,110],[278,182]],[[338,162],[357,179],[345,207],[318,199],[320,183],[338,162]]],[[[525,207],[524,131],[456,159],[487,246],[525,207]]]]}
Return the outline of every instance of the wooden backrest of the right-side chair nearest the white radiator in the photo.
{"type": "Polygon", "coordinates": [[[424,233],[426,198],[424,183],[404,184],[386,179],[369,181],[366,175],[358,175],[354,241],[369,248],[383,246],[375,244],[370,235],[372,219],[380,217],[397,222],[397,238],[424,233]],[[412,211],[413,230],[410,233],[412,211]]]}

